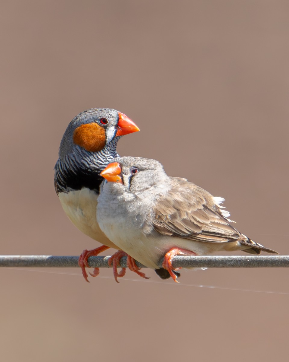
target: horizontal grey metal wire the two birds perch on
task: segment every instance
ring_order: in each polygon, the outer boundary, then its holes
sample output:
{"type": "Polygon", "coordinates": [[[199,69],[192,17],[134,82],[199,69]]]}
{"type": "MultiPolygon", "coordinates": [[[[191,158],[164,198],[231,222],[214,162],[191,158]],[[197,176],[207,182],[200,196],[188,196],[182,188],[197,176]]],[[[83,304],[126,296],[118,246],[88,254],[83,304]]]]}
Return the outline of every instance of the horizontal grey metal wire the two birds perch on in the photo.
{"type": "MultiPolygon", "coordinates": [[[[109,256],[91,256],[88,264],[91,268],[109,268],[109,256]]],[[[161,266],[160,260],[159,266],[161,266]]],[[[146,268],[139,262],[140,268],[146,268]]],[[[120,260],[126,268],[126,256],[120,260]]],[[[274,256],[175,256],[173,268],[288,268],[289,255],[274,256]]],[[[2,255],[0,267],[37,267],[37,268],[77,268],[78,256],[52,255],[2,255]]]]}

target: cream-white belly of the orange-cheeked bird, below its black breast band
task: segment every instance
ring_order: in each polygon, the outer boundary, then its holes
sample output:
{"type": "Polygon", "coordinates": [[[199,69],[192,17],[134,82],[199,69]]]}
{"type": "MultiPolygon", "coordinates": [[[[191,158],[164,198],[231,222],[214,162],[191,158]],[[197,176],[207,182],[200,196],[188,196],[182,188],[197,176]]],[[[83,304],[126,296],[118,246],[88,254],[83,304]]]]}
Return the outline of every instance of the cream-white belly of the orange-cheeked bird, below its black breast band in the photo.
{"type": "Polygon", "coordinates": [[[90,189],[82,188],[81,190],[70,191],[68,194],[61,192],[58,196],[69,220],[80,231],[101,244],[118,249],[98,226],[96,218],[98,194],[90,189]]]}

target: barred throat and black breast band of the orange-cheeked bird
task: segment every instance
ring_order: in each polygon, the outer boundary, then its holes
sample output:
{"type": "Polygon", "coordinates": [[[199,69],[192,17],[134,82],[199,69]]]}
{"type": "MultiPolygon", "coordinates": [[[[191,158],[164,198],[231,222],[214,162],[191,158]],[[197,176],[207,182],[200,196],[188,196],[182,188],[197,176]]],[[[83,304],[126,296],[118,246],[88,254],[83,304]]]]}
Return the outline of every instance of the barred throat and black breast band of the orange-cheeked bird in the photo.
{"type": "Polygon", "coordinates": [[[76,146],[73,153],[59,158],[55,165],[55,190],[68,193],[71,190],[81,190],[83,187],[99,192],[103,181],[100,172],[119,157],[116,152],[118,137],[114,138],[99,152],[88,152],[76,146]]]}

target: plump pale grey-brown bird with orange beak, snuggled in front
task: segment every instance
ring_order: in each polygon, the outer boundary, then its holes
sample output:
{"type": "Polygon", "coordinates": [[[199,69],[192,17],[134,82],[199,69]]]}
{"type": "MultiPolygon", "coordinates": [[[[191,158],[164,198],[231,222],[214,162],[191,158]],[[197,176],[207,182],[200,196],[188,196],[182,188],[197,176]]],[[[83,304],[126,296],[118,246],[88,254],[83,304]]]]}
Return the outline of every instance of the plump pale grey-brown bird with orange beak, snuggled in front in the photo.
{"type": "Polygon", "coordinates": [[[184,178],[169,177],[155,160],[122,157],[100,173],[98,222],[101,230],[148,268],[163,268],[177,281],[175,255],[205,255],[242,250],[278,254],[237,231],[223,206],[184,178]]]}

